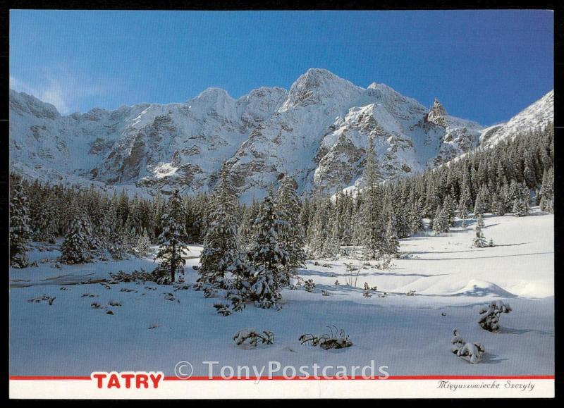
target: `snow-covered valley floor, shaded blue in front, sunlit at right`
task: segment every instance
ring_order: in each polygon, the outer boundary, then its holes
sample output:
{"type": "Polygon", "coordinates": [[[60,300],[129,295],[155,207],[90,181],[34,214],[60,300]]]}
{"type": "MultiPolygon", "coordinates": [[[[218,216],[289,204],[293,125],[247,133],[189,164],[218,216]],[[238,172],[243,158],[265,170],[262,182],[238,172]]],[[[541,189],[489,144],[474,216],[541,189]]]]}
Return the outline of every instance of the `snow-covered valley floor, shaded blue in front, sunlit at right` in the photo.
{"type": "MultiPolygon", "coordinates": [[[[405,257],[394,260],[389,270],[361,269],[356,288],[345,285],[351,277],[344,263],[358,266],[359,261],[308,262],[300,276],[314,280],[313,293],[284,290],[281,311],[249,305],[226,317],[212,307],[219,299],[205,299],[194,290],[154,283],[119,283],[109,289],[100,283],[76,284],[120,270],[151,271],[152,259],[56,268],[58,251],[36,250],[30,261],[39,266],[10,270],[10,374],[88,376],[115,370],[171,376],[176,363],[187,360],[196,376],[206,376],[202,361],[233,366],[279,361],[299,367],[364,366],[374,360],[376,367],[388,366],[392,376],[551,375],[553,216],[537,210],[524,218],[486,216],[484,221],[484,235],[496,247],[470,247],[472,223],[441,237],[422,233],[401,240],[405,257]],[[364,282],[378,287],[372,297],[362,296],[364,282]],[[410,290],[415,295],[406,296],[410,290]],[[383,292],[388,295],[379,297],[383,292]],[[168,293],[173,300],[166,299],[168,293]],[[41,295],[56,299],[52,305],[29,302],[41,295]],[[480,307],[494,299],[513,308],[501,316],[502,330],[496,334],[477,324],[480,307]],[[111,301],[121,306],[106,306],[111,301]],[[106,309],[93,309],[92,302],[106,309]],[[113,315],[106,314],[109,309],[113,315]],[[302,333],[324,333],[329,325],[343,328],[353,347],[326,351],[300,345],[302,333]],[[271,330],[274,345],[236,347],[233,334],[243,328],[271,330]],[[484,345],[481,364],[468,364],[450,352],[453,328],[467,341],[484,345]]],[[[201,248],[190,249],[188,283],[197,278],[192,266],[201,248]]]]}

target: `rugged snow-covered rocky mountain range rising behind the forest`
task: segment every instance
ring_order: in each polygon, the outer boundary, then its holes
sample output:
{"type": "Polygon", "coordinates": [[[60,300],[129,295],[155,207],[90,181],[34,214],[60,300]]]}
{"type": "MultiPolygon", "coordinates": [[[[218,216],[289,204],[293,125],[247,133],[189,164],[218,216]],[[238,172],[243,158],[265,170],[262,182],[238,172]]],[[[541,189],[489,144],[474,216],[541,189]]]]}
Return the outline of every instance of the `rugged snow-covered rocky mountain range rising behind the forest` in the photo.
{"type": "Polygon", "coordinates": [[[362,183],[370,139],[382,177],[393,179],[544,126],[552,117],[550,92],[507,123],[484,129],[450,116],[438,100],[426,108],[387,85],[362,88],[317,68],[289,92],[262,87],[233,99],[209,88],[185,103],[68,116],[11,91],[11,168],[54,183],[193,193],[213,187],[225,162],[248,201],[283,174],[293,175],[301,192],[362,183]]]}

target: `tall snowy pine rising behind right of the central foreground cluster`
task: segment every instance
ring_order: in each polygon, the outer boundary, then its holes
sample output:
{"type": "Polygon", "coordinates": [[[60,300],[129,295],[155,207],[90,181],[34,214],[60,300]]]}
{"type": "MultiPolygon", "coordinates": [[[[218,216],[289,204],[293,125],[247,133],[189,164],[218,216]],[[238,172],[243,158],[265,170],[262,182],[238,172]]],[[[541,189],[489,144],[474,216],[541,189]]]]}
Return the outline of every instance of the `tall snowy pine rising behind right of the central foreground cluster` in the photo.
{"type": "MultiPolygon", "coordinates": [[[[286,214],[288,228],[280,236],[280,247],[288,253],[288,264],[284,266],[283,284],[288,285],[298,268],[305,265],[305,237],[300,225],[301,202],[295,190],[295,181],[286,175],[276,192],[275,207],[278,213],[286,214]]],[[[336,223],[336,222],[335,222],[336,223]]]]}

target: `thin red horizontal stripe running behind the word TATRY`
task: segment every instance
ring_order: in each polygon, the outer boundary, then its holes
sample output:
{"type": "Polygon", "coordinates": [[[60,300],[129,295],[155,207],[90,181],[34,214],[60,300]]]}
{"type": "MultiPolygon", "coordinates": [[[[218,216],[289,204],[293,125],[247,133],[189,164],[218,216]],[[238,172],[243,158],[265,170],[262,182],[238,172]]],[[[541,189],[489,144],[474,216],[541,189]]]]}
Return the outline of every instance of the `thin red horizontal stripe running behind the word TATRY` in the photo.
{"type": "MultiPolygon", "coordinates": [[[[164,381],[288,381],[288,380],[366,380],[379,378],[284,378],[283,376],[268,377],[250,377],[250,378],[221,378],[221,377],[191,377],[187,380],[182,380],[176,377],[165,377],[164,381]]],[[[384,379],[384,378],[383,378],[384,379]]],[[[387,380],[553,380],[554,376],[389,376],[387,380]]],[[[10,376],[11,381],[20,380],[35,380],[35,381],[56,381],[56,380],[90,380],[90,377],[80,376],[10,376]]]]}

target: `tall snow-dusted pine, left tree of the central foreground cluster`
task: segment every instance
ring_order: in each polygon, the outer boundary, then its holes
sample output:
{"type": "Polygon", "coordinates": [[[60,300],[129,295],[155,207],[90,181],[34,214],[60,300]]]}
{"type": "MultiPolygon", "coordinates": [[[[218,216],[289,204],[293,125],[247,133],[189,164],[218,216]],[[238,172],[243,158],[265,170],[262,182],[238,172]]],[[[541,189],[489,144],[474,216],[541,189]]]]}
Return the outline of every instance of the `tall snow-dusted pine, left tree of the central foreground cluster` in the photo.
{"type": "Polygon", "coordinates": [[[210,224],[198,268],[197,281],[202,285],[223,287],[225,273],[239,254],[238,199],[232,185],[222,168],[209,206],[210,224]]]}

